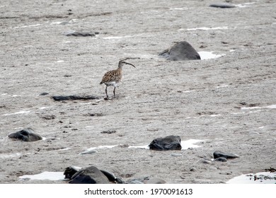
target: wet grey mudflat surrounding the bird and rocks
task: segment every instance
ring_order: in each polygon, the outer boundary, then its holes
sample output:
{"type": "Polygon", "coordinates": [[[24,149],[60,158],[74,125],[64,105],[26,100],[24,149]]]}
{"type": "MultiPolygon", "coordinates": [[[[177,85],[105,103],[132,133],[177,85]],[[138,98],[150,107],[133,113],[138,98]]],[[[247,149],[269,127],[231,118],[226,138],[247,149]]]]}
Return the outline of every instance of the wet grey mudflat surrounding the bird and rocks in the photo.
{"type": "Polygon", "coordinates": [[[18,177],[70,165],[168,183],[222,183],[275,168],[276,2],[233,0],[236,8],[209,7],[212,0],[115,2],[1,2],[1,183],[64,183],[18,177]],[[99,34],[65,36],[69,30],[99,34]],[[185,62],[157,56],[183,40],[197,52],[224,56],[185,62]],[[136,68],[124,66],[117,98],[103,100],[101,78],[122,58],[136,68]],[[100,99],[57,102],[54,95],[100,99]],[[8,139],[26,127],[45,139],[8,139]],[[108,130],[115,132],[101,133],[108,130]],[[127,147],[168,135],[199,139],[200,147],[127,147]],[[79,155],[114,145],[120,146],[79,155]],[[241,157],[202,163],[217,150],[241,157]]]}

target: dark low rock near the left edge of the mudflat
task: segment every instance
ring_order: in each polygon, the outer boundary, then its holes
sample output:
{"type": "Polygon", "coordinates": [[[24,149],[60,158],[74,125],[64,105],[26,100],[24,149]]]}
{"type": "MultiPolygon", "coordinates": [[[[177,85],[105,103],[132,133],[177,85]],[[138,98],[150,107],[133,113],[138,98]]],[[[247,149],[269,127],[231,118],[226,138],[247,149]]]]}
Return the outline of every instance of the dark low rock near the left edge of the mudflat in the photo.
{"type": "Polygon", "coordinates": [[[35,134],[31,128],[26,128],[19,132],[9,134],[8,137],[13,139],[21,139],[23,141],[38,141],[42,139],[42,136],[40,136],[40,134],[35,134]]]}

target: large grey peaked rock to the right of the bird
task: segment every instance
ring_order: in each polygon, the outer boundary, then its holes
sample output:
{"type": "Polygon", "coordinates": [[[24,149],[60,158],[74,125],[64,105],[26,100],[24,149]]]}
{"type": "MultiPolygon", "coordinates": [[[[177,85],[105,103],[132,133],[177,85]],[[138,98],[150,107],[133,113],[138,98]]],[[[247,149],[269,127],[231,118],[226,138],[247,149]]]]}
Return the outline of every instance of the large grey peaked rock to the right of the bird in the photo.
{"type": "Polygon", "coordinates": [[[177,42],[173,47],[164,50],[159,54],[159,57],[171,61],[197,60],[200,59],[200,54],[186,41],[177,42]]]}

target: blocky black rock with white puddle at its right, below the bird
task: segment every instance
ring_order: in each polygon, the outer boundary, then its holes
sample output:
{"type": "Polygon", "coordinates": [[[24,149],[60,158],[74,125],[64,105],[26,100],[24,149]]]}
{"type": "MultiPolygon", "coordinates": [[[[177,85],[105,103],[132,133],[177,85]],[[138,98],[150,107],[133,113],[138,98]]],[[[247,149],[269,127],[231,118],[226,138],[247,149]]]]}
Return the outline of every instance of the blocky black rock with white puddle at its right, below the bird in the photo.
{"type": "Polygon", "coordinates": [[[157,138],[151,141],[149,149],[151,150],[181,150],[180,136],[166,136],[164,138],[157,138]]]}

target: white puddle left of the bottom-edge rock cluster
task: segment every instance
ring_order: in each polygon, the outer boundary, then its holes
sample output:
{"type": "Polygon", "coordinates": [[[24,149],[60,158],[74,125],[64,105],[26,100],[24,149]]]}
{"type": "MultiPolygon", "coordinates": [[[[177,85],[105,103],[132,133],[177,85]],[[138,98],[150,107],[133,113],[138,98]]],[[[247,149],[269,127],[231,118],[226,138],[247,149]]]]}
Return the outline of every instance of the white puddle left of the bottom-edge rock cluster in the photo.
{"type": "Polygon", "coordinates": [[[19,179],[22,180],[65,180],[64,172],[48,172],[39,173],[37,175],[22,175],[19,179]]]}

